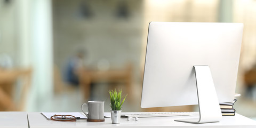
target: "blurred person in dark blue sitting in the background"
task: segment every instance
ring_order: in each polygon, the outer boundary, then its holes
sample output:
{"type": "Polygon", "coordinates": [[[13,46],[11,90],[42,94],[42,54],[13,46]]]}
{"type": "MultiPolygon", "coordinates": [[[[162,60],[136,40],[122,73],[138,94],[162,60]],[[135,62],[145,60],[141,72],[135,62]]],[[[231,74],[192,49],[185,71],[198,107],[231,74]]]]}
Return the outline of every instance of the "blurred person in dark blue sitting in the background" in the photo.
{"type": "Polygon", "coordinates": [[[84,68],[84,50],[79,50],[77,53],[68,60],[65,74],[65,81],[71,85],[78,86],[78,70],[84,68]]]}

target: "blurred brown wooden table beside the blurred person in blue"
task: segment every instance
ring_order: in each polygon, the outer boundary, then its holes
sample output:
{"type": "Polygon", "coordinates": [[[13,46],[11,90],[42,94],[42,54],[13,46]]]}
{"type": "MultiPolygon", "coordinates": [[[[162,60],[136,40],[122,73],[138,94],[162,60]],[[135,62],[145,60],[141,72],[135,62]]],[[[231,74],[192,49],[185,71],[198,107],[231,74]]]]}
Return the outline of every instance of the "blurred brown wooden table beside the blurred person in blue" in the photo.
{"type": "Polygon", "coordinates": [[[81,69],[78,73],[79,84],[84,93],[84,98],[88,100],[90,98],[91,84],[92,83],[124,83],[126,91],[129,95],[132,95],[132,65],[129,64],[125,69],[120,70],[88,70],[81,69]]]}

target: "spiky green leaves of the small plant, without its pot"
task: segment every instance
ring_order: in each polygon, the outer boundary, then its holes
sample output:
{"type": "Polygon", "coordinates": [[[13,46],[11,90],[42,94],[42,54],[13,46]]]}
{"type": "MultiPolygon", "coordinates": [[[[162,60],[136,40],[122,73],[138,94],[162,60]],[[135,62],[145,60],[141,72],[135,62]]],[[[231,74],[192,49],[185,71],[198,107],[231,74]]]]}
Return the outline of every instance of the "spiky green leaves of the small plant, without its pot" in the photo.
{"type": "Polygon", "coordinates": [[[118,90],[118,92],[115,90],[108,91],[110,96],[110,107],[111,110],[122,110],[122,105],[125,101],[126,96],[124,97],[123,101],[121,102],[122,98],[122,90],[118,90]]]}

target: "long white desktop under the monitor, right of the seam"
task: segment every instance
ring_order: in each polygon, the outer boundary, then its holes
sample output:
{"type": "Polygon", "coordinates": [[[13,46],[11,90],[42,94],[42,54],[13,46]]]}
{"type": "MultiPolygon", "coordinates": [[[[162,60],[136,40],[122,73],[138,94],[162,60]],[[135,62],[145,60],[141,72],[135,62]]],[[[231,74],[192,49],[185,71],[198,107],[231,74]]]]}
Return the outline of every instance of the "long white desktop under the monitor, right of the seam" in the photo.
{"type": "Polygon", "coordinates": [[[105,122],[94,123],[86,121],[77,122],[58,122],[46,120],[40,113],[28,113],[30,128],[36,127],[256,127],[256,121],[242,115],[223,116],[221,122],[205,123],[205,124],[190,124],[175,122],[174,119],[188,118],[189,116],[179,117],[150,117],[140,118],[140,121],[127,121],[126,118],[121,119],[120,124],[112,124],[111,118],[105,118],[105,122]]]}

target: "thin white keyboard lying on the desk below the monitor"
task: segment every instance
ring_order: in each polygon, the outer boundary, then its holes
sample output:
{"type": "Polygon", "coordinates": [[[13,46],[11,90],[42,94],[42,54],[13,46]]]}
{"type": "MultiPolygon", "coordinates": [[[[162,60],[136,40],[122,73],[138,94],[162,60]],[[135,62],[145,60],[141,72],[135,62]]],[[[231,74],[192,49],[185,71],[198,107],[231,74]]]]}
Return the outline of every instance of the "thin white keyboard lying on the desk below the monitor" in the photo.
{"type": "Polygon", "coordinates": [[[189,116],[196,112],[136,112],[122,113],[122,117],[163,117],[163,116],[189,116]]]}

